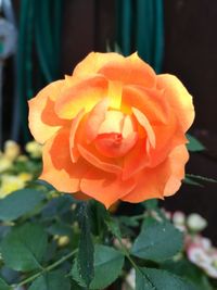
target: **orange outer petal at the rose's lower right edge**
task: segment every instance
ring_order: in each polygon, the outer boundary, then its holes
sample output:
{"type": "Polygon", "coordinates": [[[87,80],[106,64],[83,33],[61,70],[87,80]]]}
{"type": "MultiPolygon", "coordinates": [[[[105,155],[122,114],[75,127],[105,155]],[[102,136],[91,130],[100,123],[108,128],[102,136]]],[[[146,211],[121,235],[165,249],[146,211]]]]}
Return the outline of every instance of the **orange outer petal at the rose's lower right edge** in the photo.
{"type": "Polygon", "coordinates": [[[174,194],[181,186],[180,180],[184,177],[184,164],[188,159],[186,146],[175,148],[164,163],[139,173],[137,187],[122,200],[141,202],[174,194]]]}

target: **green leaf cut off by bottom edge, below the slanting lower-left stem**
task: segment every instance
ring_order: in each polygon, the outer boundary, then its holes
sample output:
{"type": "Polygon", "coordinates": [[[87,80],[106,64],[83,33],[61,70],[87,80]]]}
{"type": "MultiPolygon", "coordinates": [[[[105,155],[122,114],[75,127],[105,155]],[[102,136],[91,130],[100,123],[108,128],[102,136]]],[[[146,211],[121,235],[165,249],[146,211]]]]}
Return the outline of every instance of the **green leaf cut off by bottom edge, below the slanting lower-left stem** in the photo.
{"type": "Polygon", "coordinates": [[[71,290],[69,279],[65,278],[63,272],[55,270],[47,273],[37,278],[28,290],[71,290]]]}

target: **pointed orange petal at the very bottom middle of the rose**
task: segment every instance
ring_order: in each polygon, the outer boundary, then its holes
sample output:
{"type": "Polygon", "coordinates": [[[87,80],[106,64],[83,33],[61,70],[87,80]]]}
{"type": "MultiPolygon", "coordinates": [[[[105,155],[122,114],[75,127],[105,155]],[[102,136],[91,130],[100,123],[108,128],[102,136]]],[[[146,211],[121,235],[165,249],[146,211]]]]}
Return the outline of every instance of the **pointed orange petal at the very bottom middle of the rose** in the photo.
{"type": "Polygon", "coordinates": [[[123,196],[130,192],[136,186],[135,179],[123,181],[114,174],[98,169],[90,169],[80,182],[81,191],[102,202],[108,209],[123,196]]]}

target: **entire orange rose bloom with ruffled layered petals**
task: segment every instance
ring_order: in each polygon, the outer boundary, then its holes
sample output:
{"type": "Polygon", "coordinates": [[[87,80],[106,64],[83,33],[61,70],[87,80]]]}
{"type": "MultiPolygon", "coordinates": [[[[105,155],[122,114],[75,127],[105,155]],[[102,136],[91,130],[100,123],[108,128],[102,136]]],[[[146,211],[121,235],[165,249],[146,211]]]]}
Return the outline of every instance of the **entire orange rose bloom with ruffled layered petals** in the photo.
{"type": "Polygon", "coordinates": [[[156,75],[137,53],[91,52],[29,101],[29,128],[43,144],[40,179],[106,207],[179,189],[193,118],[180,80],[156,75]]]}

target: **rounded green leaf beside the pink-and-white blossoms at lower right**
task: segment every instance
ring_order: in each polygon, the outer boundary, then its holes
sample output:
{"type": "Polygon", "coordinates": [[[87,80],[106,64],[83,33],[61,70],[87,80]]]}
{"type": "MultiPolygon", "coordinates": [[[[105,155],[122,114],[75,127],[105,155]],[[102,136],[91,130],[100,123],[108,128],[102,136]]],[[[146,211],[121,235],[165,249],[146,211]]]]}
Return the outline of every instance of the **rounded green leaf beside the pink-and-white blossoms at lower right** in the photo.
{"type": "Polygon", "coordinates": [[[170,223],[152,223],[137,237],[131,253],[141,259],[161,262],[177,254],[182,243],[183,235],[170,223]]]}

